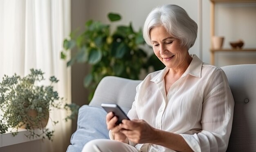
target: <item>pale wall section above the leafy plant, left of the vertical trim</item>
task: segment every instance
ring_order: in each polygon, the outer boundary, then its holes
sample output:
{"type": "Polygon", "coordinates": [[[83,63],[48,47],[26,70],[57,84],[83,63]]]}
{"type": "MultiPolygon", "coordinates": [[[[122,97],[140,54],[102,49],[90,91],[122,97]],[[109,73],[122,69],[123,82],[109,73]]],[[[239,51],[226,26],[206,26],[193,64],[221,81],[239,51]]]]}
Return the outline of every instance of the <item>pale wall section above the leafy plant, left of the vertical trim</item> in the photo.
{"type": "MultiPolygon", "coordinates": [[[[89,0],[89,17],[110,23],[107,14],[109,12],[119,13],[122,20],[112,25],[128,25],[131,21],[134,29],[138,30],[143,26],[148,13],[157,5],[162,4],[177,4],[183,7],[195,22],[198,22],[198,0],[89,0]]],[[[153,52],[153,50],[148,51],[153,52]]],[[[189,52],[199,54],[198,41],[189,52]]]]}

